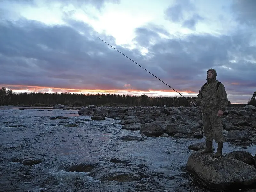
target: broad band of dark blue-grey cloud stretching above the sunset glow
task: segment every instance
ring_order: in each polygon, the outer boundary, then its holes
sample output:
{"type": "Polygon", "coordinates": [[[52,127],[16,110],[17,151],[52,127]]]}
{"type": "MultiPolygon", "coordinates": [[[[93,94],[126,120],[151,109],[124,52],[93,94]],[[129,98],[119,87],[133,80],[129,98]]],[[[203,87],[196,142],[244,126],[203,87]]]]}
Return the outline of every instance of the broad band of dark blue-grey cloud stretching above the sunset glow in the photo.
{"type": "Polygon", "coordinates": [[[170,34],[161,27],[140,27],[134,39],[138,48],[129,50],[85,23],[65,22],[66,26],[26,19],[1,22],[0,85],[172,91],[100,37],[177,91],[198,92],[209,68],[217,70],[228,94],[245,98],[255,91],[256,47],[250,45],[253,36],[246,30],[229,36],[165,39],[159,34],[170,34]],[[147,48],[148,54],[142,55],[139,48],[147,48]]]}

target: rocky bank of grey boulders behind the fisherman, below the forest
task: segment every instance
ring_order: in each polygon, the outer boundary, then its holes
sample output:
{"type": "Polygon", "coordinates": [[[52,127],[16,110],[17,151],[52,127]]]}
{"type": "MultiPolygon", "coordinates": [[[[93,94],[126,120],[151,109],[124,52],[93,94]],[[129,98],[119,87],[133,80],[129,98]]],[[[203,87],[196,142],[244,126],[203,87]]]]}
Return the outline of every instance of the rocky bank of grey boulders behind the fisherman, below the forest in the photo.
{"type": "MultiPolygon", "coordinates": [[[[122,129],[140,130],[147,136],[202,138],[203,122],[196,107],[83,107],[78,114],[92,115],[92,120],[105,117],[121,120],[122,129]]],[[[226,141],[244,148],[256,144],[256,108],[227,108],[221,120],[226,141]]]]}

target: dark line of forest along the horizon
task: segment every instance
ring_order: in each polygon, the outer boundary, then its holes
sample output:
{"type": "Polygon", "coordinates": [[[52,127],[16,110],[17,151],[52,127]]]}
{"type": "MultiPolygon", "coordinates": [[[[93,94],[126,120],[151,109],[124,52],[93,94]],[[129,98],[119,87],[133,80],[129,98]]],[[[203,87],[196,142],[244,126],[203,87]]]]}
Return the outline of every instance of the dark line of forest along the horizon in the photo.
{"type": "MultiPolygon", "coordinates": [[[[190,106],[189,100],[195,97],[149,97],[148,95],[131,96],[119,94],[78,94],[78,93],[12,93],[11,89],[0,88],[0,105],[21,106],[55,106],[57,104],[73,106],[190,106]]],[[[256,106],[256,91],[247,104],[256,106]]],[[[244,106],[246,104],[231,104],[229,106],[244,106]]]]}

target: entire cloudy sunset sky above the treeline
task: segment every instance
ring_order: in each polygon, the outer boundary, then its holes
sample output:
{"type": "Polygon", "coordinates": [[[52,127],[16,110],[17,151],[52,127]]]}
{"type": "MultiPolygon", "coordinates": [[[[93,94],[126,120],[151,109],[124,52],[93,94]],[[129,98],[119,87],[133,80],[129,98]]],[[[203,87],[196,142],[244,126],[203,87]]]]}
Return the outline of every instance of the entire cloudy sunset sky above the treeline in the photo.
{"type": "Polygon", "coordinates": [[[194,97],[214,68],[228,100],[247,103],[255,10],[254,0],[1,0],[0,87],[194,97]]]}

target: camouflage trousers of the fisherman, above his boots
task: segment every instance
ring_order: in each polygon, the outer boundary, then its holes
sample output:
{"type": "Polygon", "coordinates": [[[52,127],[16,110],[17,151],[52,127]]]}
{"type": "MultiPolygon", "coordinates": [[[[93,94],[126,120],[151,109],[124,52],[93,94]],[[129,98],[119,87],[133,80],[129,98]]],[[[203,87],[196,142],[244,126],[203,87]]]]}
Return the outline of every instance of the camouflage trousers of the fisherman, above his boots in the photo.
{"type": "Polygon", "coordinates": [[[212,111],[202,114],[205,141],[213,141],[214,138],[216,143],[224,143],[221,118],[217,113],[218,111],[212,111]]]}

